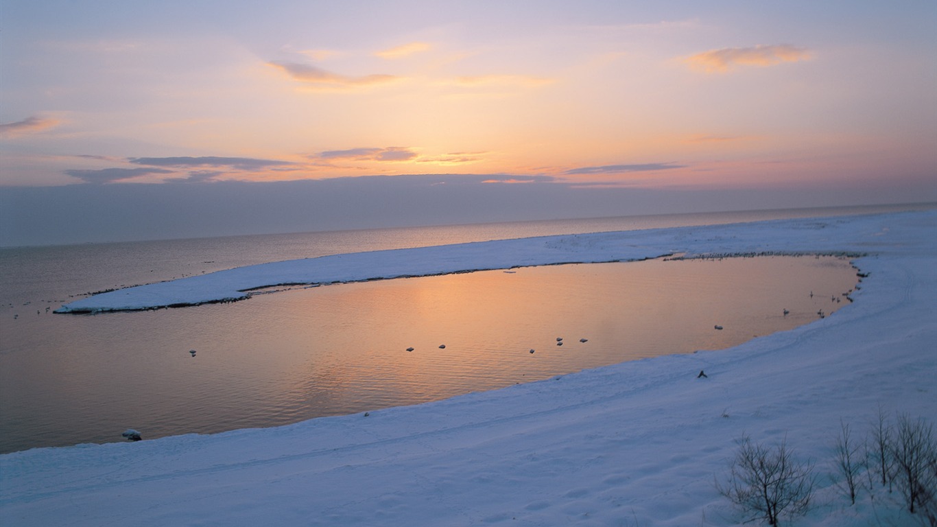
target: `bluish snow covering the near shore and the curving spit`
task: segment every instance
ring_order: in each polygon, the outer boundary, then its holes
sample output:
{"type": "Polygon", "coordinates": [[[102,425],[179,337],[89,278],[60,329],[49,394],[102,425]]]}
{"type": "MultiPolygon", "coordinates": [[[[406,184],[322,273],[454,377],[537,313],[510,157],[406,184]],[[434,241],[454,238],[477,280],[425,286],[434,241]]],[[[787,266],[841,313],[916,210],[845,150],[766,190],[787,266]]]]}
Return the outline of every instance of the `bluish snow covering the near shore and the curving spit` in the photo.
{"type": "Polygon", "coordinates": [[[729,350],[285,427],[7,454],[0,523],[734,525],[742,518],[713,482],[748,434],[786,438],[798,459],[816,462],[815,506],[798,525],[916,524],[879,489],[850,506],[826,474],[840,419],[861,433],[880,408],[935,421],[935,210],[343,255],[80,307],[176,303],[186,288],[185,298],[206,301],[267,277],[387,278],[677,252],[862,253],[855,265],[869,276],[832,316],[729,350]]]}

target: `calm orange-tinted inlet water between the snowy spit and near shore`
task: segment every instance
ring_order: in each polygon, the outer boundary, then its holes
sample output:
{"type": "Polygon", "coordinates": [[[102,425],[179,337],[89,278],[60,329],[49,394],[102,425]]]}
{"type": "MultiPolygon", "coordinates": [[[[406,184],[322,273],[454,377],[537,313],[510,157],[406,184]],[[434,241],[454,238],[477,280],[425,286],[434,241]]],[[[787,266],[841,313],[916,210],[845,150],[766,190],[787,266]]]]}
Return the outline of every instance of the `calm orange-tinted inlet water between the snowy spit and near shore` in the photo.
{"type": "Polygon", "coordinates": [[[0,446],[274,426],[721,349],[828,316],[855,281],[837,258],[648,261],[23,316],[4,325],[0,446]]]}

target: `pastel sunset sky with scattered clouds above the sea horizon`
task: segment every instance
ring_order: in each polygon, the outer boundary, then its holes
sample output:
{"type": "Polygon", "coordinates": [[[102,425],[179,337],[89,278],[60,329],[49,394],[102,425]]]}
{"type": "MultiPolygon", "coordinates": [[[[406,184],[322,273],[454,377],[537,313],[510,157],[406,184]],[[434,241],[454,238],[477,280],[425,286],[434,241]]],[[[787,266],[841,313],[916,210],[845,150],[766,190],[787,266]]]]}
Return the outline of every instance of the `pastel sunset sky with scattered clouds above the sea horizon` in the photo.
{"type": "Polygon", "coordinates": [[[937,4],[0,0],[0,245],[937,201],[937,4]]]}

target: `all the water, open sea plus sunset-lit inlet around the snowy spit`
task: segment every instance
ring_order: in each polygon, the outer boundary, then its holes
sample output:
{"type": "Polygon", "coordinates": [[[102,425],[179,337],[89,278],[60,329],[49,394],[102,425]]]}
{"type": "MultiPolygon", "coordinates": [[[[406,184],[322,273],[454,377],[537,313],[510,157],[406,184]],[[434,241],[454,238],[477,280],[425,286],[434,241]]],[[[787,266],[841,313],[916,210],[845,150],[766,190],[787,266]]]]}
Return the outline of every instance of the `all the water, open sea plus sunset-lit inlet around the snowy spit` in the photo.
{"type": "Polygon", "coordinates": [[[55,314],[96,292],[389,248],[924,205],[677,214],[0,248],[0,453],[379,412],[737,345],[848,305],[848,261],[770,257],[484,271],[233,304],[55,314]],[[718,328],[717,328],[718,326],[718,328]]]}

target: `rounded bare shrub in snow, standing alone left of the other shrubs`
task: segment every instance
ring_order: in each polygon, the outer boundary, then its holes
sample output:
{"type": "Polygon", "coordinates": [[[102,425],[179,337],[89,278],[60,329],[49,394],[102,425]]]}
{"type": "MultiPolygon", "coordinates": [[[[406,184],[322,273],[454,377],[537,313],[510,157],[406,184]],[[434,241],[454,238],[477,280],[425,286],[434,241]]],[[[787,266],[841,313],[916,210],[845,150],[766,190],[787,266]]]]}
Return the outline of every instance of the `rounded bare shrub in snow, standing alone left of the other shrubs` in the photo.
{"type": "Polygon", "coordinates": [[[774,448],[738,440],[736,458],[728,479],[717,480],[716,489],[746,516],[745,521],[764,519],[777,526],[781,516],[795,518],[810,510],[813,495],[813,464],[799,463],[787,442],[774,448]]]}

